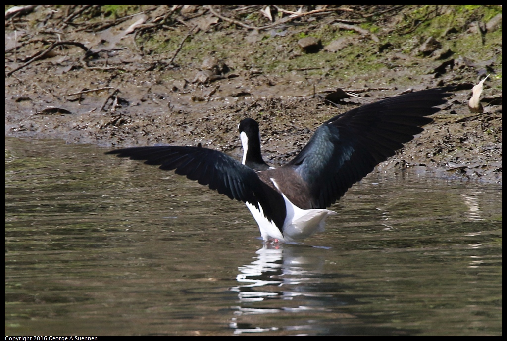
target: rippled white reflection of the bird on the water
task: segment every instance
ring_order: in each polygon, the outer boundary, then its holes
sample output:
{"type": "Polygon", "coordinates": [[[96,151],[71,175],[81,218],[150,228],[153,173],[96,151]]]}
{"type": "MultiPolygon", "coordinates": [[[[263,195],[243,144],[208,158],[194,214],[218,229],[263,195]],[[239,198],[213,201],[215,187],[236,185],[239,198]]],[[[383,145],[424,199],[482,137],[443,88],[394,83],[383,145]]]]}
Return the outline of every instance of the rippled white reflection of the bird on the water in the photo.
{"type": "MultiPolygon", "coordinates": [[[[323,307],[330,295],[315,288],[322,282],[323,253],[303,245],[265,244],[249,264],[238,268],[239,285],[231,288],[238,293],[239,305],[231,307],[236,316],[229,324],[235,334],[266,332],[277,327],[265,325],[266,314],[329,311],[323,307]],[[295,297],[301,297],[294,301],[295,297]],[[304,302],[304,305],[301,303],[304,302]],[[239,323],[240,316],[249,316],[248,322],[239,323]],[[256,318],[258,316],[259,318],[256,318]]],[[[336,302],[334,302],[336,306],[336,302]]],[[[309,326],[290,326],[304,330],[309,326]]]]}

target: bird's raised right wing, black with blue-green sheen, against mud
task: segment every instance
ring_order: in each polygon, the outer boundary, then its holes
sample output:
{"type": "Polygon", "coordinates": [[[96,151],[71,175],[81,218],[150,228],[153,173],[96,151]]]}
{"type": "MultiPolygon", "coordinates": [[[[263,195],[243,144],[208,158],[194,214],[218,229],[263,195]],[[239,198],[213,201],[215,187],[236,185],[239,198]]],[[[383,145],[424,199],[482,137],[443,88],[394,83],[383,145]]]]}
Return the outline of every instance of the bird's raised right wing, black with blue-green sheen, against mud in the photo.
{"type": "Polygon", "coordinates": [[[412,92],[352,109],[322,124],[294,160],[308,183],[312,208],[326,208],[353,183],[423,131],[452,87],[412,92]]]}

